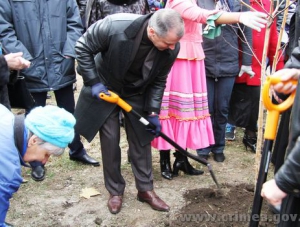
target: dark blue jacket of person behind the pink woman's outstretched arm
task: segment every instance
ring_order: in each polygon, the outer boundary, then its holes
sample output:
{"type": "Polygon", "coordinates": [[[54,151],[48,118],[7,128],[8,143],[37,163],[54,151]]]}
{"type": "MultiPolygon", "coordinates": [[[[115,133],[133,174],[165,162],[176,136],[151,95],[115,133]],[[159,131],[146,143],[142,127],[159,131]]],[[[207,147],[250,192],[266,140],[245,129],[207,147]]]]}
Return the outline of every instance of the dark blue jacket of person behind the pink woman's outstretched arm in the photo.
{"type": "MultiPolygon", "coordinates": [[[[232,12],[249,11],[238,0],[234,0],[233,2],[234,8],[232,12]]],[[[244,2],[249,4],[249,0],[244,2]]],[[[198,0],[197,4],[204,9],[215,9],[215,1],[212,0],[198,0]]],[[[251,29],[243,24],[225,25],[221,29],[221,35],[214,39],[203,37],[202,46],[205,53],[204,61],[207,77],[237,76],[240,71],[240,62],[247,66],[252,64],[252,53],[249,48],[252,47],[251,29]],[[238,29],[238,26],[241,27],[244,35],[238,29]],[[239,50],[243,52],[241,54],[242,61],[239,61],[239,50]]]]}

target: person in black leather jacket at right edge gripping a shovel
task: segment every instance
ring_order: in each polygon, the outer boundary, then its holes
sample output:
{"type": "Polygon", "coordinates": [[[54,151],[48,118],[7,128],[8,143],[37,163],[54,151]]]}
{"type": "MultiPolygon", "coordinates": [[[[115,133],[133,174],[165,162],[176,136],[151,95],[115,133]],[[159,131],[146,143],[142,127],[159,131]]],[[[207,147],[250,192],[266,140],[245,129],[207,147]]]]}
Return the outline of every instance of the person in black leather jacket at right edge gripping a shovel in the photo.
{"type": "MultiPolygon", "coordinates": [[[[299,55],[300,57],[300,55],[299,55]]],[[[299,58],[300,60],[300,58],[299,58]]],[[[283,69],[276,75],[286,78],[299,78],[299,69],[283,69]]],[[[285,87],[289,88],[290,84],[285,87]]],[[[284,91],[283,89],[281,91],[284,91]]],[[[263,184],[261,196],[271,205],[280,206],[280,227],[300,226],[300,86],[298,84],[290,121],[290,135],[286,150],[286,160],[276,172],[274,179],[263,184]],[[292,216],[293,215],[293,216],[292,216]]]]}

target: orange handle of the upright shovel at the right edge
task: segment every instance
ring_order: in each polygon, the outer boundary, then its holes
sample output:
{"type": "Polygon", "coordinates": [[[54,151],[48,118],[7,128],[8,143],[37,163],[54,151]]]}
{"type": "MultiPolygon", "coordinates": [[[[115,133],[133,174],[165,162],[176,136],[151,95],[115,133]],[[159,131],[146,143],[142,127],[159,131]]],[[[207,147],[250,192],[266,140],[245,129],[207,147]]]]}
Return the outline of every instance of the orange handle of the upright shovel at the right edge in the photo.
{"type": "MultiPolygon", "coordinates": [[[[264,138],[269,140],[274,140],[276,137],[277,124],[279,120],[279,114],[292,106],[294,103],[296,92],[294,91],[290,96],[280,104],[272,103],[271,97],[269,95],[270,86],[277,84],[281,81],[280,76],[268,76],[264,83],[262,91],[262,99],[266,109],[268,110],[266,128],[264,138]]],[[[284,83],[284,82],[283,82],[284,83]]],[[[297,80],[292,80],[293,84],[297,84],[297,80]]]]}

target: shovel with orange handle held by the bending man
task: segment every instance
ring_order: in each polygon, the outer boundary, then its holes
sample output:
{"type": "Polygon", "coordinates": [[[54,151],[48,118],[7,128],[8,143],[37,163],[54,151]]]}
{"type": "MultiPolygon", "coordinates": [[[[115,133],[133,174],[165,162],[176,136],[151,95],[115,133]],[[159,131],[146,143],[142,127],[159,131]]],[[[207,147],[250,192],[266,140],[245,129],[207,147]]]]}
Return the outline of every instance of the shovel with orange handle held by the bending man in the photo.
{"type": "MultiPolygon", "coordinates": [[[[147,121],[147,119],[145,119],[144,117],[142,117],[139,113],[137,113],[135,110],[132,109],[132,107],[126,103],[123,99],[121,99],[117,94],[113,93],[112,91],[109,91],[110,96],[106,95],[104,93],[100,93],[99,97],[107,102],[110,103],[115,103],[118,106],[120,106],[124,111],[126,111],[127,113],[131,113],[133,114],[133,116],[135,116],[142,124],[144,124],[147,127],[150,127],[152,129],[155,129],[155,126],[153,124],[151,124],[149,121],[147,121]]],[[[160,132],[159,136],[162,137],[164,140],[166,140],[168,143],[170,143],[173,147],[176,148],[176,150],[178,150],[181,154],[183,154],[186,157],[189,157],[205,166],[207,166],[210,175],[213,179],[213,181],[215,182],[215,184],[217,185],[218,188],[220,188],[218,181],[216,179],[216,176],[212,170],[211,165],[207,162],[207,160],[200,158],[196,155],[193,155],[189,152],[187,152],[185,149],[183,149],[181,146],[179,146],[177,143],[175,143],[171,138],[169,138],[167,135],[165,135],[164,133],[160,132]]]]}

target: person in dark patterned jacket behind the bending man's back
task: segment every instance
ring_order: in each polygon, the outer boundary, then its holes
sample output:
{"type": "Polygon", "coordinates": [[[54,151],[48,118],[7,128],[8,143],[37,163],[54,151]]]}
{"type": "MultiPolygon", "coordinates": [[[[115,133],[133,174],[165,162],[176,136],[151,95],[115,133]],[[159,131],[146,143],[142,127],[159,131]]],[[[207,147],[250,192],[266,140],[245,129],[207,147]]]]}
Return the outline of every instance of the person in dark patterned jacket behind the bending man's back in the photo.
{"type": "Polygon", "coordinates": [[[85,26],[88,28],[96,21],[115,13],[150,13],[147,0],[87,0],[85,26]]]}

